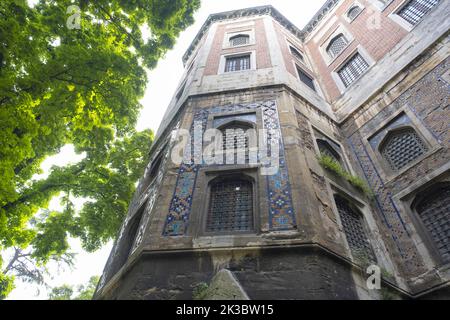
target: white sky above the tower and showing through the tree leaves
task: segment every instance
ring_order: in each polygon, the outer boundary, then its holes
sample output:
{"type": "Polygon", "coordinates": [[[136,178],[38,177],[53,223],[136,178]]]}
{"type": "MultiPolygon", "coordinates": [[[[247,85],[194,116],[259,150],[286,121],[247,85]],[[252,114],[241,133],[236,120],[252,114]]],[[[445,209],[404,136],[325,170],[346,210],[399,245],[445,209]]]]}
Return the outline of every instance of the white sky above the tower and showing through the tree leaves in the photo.
{"type": "MultiPolygon", "coordinates": [[[[164,59],[159,61],[157,68],[148,74],[148,88],[141,101],[144,107],[137,124],[138,130],[151,128],[156,133],[164,112],[181,80],[180,77],[184,70],[181,58],[209,14],[272,4],[293,24],[303,28],[325,3],[325,0],[202,0],[201,2],[202,6],[195,14],[195,23],[181,33],[174,49],[168,52],[164,59]]],[[[63,148],[59,155],[47,159],[42,167],[45,172],[51,165],[67,164],[68,162],[65,159],[71,159],[71,162],[73,162],[79,158],[80,156],[73,152],[73,148],[67,146],[63,148]]],[[[58,201],[53,201],[50,209],[57,209],[58,206],[58,201]]],[[[87,253],[81,249],[79,241],[71,240],[71,244],[73,245],[72,251],[77,252],[75,267],[73,270],[68,268],[58,270],[56,266],[50,266],[53,279],[49,279],[48,282],[51,286],[59,286],[65,283],[83,284],[91,276],[100,275],[112,246],[109,243],[95,253],[87,253]]],[[[16,289],[13,290],[8,299],[46,299],[47,291],[45,288],[40,287],[39,294],[37,294],[37,289],[36,285],[16,281],[16,289]]]]}

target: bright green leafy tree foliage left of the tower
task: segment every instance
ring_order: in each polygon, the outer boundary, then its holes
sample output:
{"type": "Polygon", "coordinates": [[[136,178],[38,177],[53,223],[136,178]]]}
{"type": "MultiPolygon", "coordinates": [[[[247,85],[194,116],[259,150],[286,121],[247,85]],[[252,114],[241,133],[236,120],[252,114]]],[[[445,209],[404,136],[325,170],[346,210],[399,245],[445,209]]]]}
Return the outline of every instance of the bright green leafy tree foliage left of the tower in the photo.
{"type": "Polygon", "coordinates": [[[63,257],[68,236],[90,251],[115,236],[153,139],[134,130],[146,68],[198,7],[198,0],[0,1],[0,249],[14,251],[2,277],[33,275],[27,261],[63,257]],[[71,5],[80,28],[67,27],[71,5]],[[84,159],[35,179],[42,161],[67,144],[84,159]],[[63,209],[42,210],[55,196],[63,209]],[[80,212],[74,197],[88,199],[80,212]]]}

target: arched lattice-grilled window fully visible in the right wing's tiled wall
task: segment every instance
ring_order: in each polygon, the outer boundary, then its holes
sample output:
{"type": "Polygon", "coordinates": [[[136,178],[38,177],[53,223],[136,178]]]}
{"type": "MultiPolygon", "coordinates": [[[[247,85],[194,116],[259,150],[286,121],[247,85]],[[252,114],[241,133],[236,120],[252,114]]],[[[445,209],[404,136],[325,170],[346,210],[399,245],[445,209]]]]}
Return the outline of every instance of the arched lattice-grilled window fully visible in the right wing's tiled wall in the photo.
{"type": "Polygon", "coordinates": [[[390,132],[380,147],[383,158],[397,171],[427,151],[426,145],[413,128],[390,132]]]}

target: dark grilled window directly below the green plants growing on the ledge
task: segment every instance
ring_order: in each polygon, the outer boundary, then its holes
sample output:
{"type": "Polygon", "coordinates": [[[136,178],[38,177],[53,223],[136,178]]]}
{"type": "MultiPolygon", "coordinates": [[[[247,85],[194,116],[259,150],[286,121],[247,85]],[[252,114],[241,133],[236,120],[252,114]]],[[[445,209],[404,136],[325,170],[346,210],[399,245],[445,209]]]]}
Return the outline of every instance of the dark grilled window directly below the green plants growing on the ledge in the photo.
{"type": "Polygon", "coordinates": [[[334,200],[352,254],[355,258],[364,258],[365,260],[375,262],[375,254],[364,228],[362,214],[354,209],[348,200],[340,196],[335,196],[334,200]]]}

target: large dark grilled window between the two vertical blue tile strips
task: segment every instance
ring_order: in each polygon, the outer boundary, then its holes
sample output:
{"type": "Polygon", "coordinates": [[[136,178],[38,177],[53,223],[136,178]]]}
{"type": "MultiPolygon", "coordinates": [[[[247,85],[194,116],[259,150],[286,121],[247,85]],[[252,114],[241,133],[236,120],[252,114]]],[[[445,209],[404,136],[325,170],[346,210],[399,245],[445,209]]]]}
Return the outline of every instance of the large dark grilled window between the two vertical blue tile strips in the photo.
{"type": "Polygon", "coordinates": [[[253,230],[253,184],[238,177],[213,182],[206,222],[207,232],[253,230]]]}

